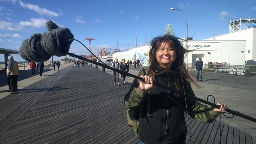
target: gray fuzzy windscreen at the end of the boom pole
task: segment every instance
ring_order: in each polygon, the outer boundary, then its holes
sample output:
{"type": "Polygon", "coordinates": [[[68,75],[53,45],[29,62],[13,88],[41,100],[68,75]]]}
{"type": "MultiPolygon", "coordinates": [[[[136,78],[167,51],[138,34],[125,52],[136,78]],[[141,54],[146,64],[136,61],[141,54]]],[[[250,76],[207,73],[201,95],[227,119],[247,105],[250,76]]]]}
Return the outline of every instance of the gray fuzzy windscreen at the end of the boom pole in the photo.
{"type": "Polygon", "coordinates": [[[33,34],[23,41],[19,53],[26,61],[47,61],[52,55],[68,54],[74,35],[68,28],[60,28],[54,22],[46,22],[47,32],[33,34]]]}

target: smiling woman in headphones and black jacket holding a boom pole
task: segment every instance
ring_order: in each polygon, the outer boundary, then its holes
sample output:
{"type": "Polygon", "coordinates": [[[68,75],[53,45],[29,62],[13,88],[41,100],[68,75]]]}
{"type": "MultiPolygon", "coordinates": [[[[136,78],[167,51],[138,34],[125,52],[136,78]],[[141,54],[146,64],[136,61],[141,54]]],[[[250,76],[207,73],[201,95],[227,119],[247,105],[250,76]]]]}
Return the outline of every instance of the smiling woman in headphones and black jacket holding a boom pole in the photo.
{"type": "Polygon", "coordinates": [[[184,65],[185,52],[187,50],[172,35],[154,38],[149,51],[148,75],[144,69],[140,70],[138,76],[144,81],[135,79],[125,95],[127,109],[140,108],[137,132],[141,144],[185,144],[187,126],[184,111],[202,122],[212,122],[219,113],[227,109],[221,103],[217,104],[220,109],[207,107],[196,100],[185,99],[182,95],[154,85],[155,81],[195,96],[190,83],[200,86],[184,65]]]}

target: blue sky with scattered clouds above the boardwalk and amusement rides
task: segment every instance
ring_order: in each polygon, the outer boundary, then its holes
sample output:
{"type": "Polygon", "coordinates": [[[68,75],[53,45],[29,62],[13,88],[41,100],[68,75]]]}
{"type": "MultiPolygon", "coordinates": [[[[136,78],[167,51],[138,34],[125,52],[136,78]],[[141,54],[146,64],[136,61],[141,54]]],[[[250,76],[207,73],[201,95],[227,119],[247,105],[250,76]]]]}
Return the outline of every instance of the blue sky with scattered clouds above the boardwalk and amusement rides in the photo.
{"type": "MultiPolygon", "coordinates": [[[[0,0],[0,47],[19,50],[23,40],[46,30],[45,22],[54,21],[71,30],[74,38],[97,55],[98,48],[121,51],[142,46],[153,37],[162,35],[171,24],[177,37],[202,40],[226,34],[229,21],[237,18],[256,19],[256,1],[171,1],[171,0],[0,0]]],[[[88,51],[74,41],[71,53],[88,55],[88,51]]],[[[14,54],[16,61],[25,61],[14,54]]],[[[63,57],[61,57],[63,58],[63,57]]],[[[54,56],[54,60],[59,60],[54,56]]],[[[0,54],[0,61],[4,55],[0,54]]]]}

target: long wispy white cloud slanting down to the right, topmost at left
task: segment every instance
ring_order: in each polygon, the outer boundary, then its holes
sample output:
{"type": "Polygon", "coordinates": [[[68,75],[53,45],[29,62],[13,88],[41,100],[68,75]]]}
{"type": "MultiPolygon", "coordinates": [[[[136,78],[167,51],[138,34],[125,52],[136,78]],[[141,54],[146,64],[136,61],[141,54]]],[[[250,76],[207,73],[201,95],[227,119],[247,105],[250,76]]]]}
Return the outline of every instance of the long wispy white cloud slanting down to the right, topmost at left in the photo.
{"type": "Polygon", "coordinates": [[[61,11],[61,14],[57,14],[56,12],[50,11],[46,8],[40,8],[38,5],[23,3],[22,1],[19,1],[19,3],[22,8],[27,8],[27,9],[33,10],[40,15],[59,16],[62,14],[62,11],[61,11]]]}

